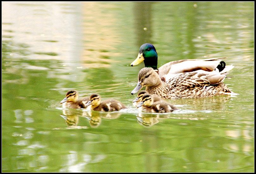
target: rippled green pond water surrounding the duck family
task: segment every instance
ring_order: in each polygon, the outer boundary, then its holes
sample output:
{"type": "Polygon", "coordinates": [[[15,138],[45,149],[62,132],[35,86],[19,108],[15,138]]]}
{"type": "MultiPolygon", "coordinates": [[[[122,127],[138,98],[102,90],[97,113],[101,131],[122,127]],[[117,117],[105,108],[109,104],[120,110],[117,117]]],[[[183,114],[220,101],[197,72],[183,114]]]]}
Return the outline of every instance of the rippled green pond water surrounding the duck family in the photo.
{"type": "Polygon", "coordinates": [[[3,2],[2,171],[253,172],[254,3],[3,2]],[[140,113],[130,93],[144,65],[129,65],[143,43],[158,67],[228,57],[240,95],[140,113]],[[63,111],[70,89],[128,109],[63,111]]]}

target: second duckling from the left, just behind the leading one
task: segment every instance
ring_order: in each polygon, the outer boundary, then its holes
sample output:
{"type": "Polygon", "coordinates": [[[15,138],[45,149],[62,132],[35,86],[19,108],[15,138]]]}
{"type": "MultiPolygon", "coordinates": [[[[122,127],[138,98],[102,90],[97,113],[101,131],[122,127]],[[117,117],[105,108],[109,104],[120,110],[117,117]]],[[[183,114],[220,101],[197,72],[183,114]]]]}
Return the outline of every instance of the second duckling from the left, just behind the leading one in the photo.
{"type": "Polygon", "coordinates": [[[119,111],[127,108],[124,104],[114,99],[101,101],[99,94],[92,94],[88,103],[85,106],[91,105],[91,110],[94,111],[119,111]]]}

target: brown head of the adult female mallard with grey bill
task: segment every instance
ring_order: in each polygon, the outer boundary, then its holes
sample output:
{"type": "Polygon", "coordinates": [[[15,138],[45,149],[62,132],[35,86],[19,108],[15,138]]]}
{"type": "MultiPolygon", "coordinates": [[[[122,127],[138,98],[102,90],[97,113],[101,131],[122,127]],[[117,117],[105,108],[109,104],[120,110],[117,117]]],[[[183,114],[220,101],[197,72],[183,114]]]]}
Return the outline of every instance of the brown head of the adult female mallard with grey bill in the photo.
{"type": "Polygon", "coordinates": [[[143,68],[138,74],[137,86],[131,91],[131,95],[137,93],[142,87],[155,87],[162,83],[159,75],[153,68],[143,68]]]}

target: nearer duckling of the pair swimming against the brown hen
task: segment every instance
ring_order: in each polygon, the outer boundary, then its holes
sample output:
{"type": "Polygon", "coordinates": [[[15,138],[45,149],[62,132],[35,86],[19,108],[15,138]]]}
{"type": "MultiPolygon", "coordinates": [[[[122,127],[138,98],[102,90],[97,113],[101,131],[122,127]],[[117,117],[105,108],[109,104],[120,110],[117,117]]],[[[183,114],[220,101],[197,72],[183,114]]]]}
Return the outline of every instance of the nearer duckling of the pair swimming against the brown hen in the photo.
{"type": "Polygon", "coordinates": [[[149,94],[146,94],[142,97],[142,101],[140,102],[137,107],[142,106],[142,111],[147,111],[147,112],[160,112],[160,113],[165,113],[165,112],[172,112],[174,110],[177,110],[174,105],[171,105],[165,101],[153,101],[153,97],[149,94]]]}

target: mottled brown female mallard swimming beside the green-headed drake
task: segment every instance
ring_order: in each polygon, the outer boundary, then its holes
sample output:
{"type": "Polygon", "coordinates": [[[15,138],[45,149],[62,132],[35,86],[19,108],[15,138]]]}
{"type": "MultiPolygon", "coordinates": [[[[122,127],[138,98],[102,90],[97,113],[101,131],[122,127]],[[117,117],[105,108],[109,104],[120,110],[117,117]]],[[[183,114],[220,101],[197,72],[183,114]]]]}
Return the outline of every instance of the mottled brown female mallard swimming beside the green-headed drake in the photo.
{"type": "Polygon", "coordinates": [[[137,93],[144,86],[147,93],[156,94],[163,99],[235,94],[223,83],[225,77],[226,75],[219,73],[187,72],[179,73],[165,83],[153,68],[143,68],[138,74],[137,86],[131,94],[137,93]]]}

